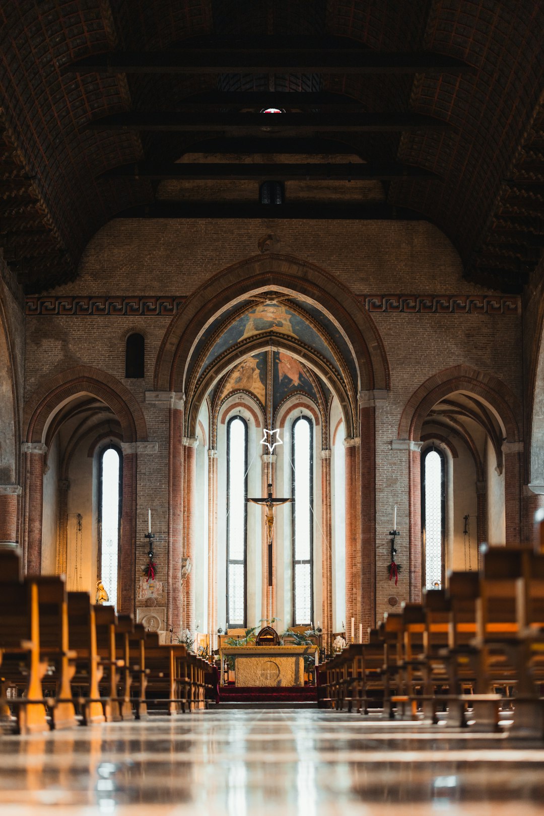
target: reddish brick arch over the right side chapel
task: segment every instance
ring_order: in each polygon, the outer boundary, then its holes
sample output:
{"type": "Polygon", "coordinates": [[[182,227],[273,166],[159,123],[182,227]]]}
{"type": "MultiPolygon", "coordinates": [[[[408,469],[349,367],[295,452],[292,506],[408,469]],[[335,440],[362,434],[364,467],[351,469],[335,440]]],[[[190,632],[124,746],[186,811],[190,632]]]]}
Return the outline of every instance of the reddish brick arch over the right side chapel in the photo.
{"type": "Polygon", "coordinates": [[[454,391],[468,391],[488,402],[502,420],[506,439],[511,442],[521,440],[522,412],[515,394],[498,377],[471,366],[444,369],[416,388],[400,417],[397,437],[419,441],[422,424],[432,406],[454,391]]]}

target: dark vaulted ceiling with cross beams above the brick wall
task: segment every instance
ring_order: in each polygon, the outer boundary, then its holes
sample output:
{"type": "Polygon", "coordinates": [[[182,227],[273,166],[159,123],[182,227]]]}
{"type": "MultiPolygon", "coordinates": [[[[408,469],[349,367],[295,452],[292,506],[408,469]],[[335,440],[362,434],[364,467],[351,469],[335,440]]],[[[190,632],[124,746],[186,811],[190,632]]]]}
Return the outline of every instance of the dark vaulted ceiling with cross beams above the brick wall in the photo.
{"type": "Polygon", "coordinates": [[[114,217],[224,214],[219,195],[165,204],[161,180],[264,180],[268,154],[279,180],[303,162],[308,183],[349,184],[355,156],[385,200],[286,200],[281,217],[430,220],[468,280],[519,291],[544,248],[542,31],[538,0],[4,2],[4,258],[37,292],[114,217]],[[213,169],[180,171],[188,153],[213,169]]]}

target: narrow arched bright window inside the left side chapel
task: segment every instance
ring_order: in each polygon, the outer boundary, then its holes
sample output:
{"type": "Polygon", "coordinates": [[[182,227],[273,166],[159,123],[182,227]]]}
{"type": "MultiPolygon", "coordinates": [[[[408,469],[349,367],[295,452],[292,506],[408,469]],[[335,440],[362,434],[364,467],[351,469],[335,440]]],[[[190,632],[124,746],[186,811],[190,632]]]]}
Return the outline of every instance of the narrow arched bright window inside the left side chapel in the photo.
{"type": "Polygon", "coordinates": [[[99,578],[108,592],[108,603],[117,609],[117,565],[121,520],[122,459],[117,448],[104,450],[100,458],[99,578]]]}

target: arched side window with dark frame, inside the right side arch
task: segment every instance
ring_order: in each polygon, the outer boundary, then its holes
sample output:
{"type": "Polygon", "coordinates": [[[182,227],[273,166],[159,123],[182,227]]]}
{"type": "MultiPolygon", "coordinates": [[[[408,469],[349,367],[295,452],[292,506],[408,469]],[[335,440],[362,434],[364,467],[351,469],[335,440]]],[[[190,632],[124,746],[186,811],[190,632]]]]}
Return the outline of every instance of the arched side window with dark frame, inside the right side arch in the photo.
{"type": "Polygon", "coordinates": [[[422,583],[427,589],[444,586],[445,572],[444,455],[434,447],[422,455],[422,583]]]}

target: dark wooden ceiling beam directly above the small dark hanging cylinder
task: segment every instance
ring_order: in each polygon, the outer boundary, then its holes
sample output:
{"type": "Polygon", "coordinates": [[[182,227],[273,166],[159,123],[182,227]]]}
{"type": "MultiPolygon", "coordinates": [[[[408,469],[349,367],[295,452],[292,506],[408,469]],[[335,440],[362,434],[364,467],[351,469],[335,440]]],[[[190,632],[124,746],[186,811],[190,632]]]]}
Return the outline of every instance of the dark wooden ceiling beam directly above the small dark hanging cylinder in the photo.
{"type": "Polygon", "coordinates": [[[166,179],[231,179],[231,180],[382,180],[417,178],[438,179],[439,175],[421,167],[413,167],[399,162],[390,164],[368,163],[299,163],[283,164],[273,162],[138,162],[115,167],[102,174],[103,178],[145,178],[154,181],[166,179]]]}

